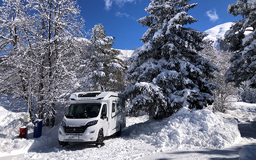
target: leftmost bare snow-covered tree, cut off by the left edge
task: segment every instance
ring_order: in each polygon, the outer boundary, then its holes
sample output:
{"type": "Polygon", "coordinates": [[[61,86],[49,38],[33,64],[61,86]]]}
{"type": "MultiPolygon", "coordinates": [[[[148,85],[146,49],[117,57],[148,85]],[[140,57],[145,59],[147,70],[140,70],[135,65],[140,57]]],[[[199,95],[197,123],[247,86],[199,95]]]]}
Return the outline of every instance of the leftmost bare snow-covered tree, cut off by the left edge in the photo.
{"type": "Polygon", "coordinates": [[[0,6],[0,92],[22,98],[31,106],[31,65],[27,61],[28,55],[25,51],[29,44],[26,28],[30,22],[26,4],[26,1],[4,0],[0,6]]]}

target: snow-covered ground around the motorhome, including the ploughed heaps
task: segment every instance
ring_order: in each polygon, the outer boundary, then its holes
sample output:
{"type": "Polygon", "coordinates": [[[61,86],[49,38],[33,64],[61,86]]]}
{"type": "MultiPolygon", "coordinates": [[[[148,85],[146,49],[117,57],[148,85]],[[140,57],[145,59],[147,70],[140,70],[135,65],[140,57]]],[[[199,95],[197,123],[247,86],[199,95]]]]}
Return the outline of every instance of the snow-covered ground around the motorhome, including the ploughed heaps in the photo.
{"type": "Polygon", "coordinates": [[[255,158],[256,104],[234,102],[225,114],[181,108],[161,121],[127,117],[121,137],[107,137],[105,146],[97,148],[81,142],[59,146],[58,126],[43,127],[42,137],[33,138],[31,122],[28,139],[18,138],[19,128],[27,124],[26,108],[16,102],[0,95],[0,159],[255,158]]]}

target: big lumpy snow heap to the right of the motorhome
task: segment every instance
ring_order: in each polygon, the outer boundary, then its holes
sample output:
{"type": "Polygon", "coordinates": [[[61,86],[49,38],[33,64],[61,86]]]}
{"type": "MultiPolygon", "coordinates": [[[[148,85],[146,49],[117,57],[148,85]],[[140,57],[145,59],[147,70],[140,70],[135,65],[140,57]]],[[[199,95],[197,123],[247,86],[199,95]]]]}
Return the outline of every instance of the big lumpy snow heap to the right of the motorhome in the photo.
{"type": "Polygon", "coordinates": [[[161,148],[226,148],[241,137],[237,122],[210,110],[181,108],[162,121],[138,124],[130,137],[161,148]]]}

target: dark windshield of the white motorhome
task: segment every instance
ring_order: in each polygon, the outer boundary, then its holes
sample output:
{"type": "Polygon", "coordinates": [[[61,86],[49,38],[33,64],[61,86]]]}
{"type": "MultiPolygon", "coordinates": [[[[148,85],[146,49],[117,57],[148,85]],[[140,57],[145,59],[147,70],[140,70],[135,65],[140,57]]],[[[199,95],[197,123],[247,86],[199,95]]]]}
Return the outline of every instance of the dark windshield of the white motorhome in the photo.
{"type": "Polygon", "coordinates": [[[82,103],[69,106],[65,116],[67,118],[93,118],[100,112],[100,103],[82,103]]]}

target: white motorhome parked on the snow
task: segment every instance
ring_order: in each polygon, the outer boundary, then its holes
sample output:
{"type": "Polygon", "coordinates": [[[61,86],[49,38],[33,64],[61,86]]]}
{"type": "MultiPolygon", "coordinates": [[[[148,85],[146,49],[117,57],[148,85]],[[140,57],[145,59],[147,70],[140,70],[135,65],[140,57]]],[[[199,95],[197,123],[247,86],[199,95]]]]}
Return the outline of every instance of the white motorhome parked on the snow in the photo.
{"type": "Polygon", "coordinates": [[[79,141],[103,146],[103,138],[121,135],[125,127],[125,97],[114,92],[79,92],[70,95],[70,106],[59,128],[59,143],[79,141]]]}

